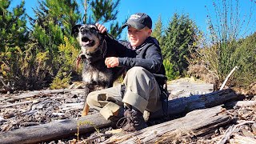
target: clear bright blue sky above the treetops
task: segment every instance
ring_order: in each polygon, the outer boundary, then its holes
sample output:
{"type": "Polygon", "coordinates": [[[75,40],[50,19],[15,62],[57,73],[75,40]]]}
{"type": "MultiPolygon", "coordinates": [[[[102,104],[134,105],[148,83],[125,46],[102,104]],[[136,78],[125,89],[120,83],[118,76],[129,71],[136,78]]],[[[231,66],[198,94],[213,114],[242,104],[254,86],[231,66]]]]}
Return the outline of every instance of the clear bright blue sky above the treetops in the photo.
{"type": "MultiPolygon", "coordinates": [[[[12,5],[17,5],[21,1],[22,0],[13,0],[12,5]]],[[[82,2],[82,0],[77,1],[82,2]]],[[[221,0],[215,0],[217,4],[219,1],[221,0]]],[[[25,2],[26,13],[30,16],[33,16],[32,7],[35,7],[37,5],[37,1],[25,0],[25,2]]],[[[240,0],[239,2],[240,8],[238,13],[245,15],[244,18],[249,18],[249,8],[251,0],[240,0]]],[[[190,16],[190,19],[192,19],[199,27],[199,30],[202,30],[206,33],[207,15],[210,14],[212,17],[215,17],[213,3],[213,0],[121,0],[118,6],[118,22],[123,22],[125,18],[130,16],[130,14],[144,12],[150,15],[153,20],[153,25],[154,22],[158,20],[158,16],[161,15],[164,26],[168,26],[170,18],[176,12],[178,14],[188,14],[190,16]],[[209,11],[206,10],[206,7],[209,9],[209,11]]],[[[251,20],[251,22],[256,21],[255,5],[256,4],[254,2],[254,15],[252,16],[253,19],[251,20]]],[[[252,27],[254,24],[251,23],[250,27],[252,27]]]]}

